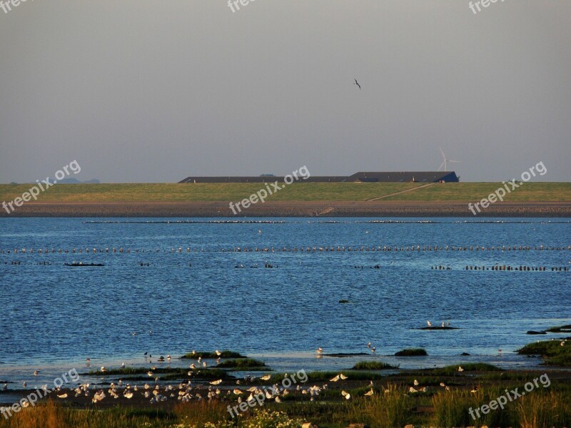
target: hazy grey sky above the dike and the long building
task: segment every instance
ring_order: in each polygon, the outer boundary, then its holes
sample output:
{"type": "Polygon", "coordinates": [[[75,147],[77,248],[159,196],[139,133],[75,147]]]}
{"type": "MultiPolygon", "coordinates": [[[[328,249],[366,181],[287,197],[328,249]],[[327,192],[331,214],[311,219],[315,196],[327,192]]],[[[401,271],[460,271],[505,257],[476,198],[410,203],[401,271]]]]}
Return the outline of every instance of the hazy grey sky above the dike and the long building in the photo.
{"type": "Polygon", "coordinates": [[[571,181],[571,1],[238,6],[0,9],[0,183],[437,170],[440,147],[461,181],[571,181]]]}

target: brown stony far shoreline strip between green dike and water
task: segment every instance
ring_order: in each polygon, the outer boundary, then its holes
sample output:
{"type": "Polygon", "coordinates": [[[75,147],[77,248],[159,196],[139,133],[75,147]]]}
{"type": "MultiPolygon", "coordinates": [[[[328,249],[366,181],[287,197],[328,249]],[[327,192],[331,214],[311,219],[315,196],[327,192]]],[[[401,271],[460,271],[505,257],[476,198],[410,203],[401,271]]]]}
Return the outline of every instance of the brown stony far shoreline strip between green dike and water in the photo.
{"type": "Polygon", "coordinates": [[[571,202],[498,202],[473,215],[468,202],[319,201],[266,202],[233,214],[229,202],[75,202],[24,203],[13,213],[0,210],[0,218],[40,217],[452,217],[452,218],[571,218],[571,202]]]}

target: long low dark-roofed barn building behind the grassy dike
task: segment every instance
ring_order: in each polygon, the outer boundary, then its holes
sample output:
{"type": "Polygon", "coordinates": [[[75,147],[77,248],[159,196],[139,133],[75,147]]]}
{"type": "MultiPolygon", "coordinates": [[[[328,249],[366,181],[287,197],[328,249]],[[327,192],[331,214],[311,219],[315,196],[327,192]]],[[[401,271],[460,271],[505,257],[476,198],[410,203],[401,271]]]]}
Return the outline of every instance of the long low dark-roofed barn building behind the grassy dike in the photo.
{"type": "MultiPolygon", "coordinates": [[[[283,181],[275,175],[235,176],[235,177],[187,177],[178,183],[270,183],[283,181]]],[[[458,183],[460,178],[454,171],[405,171],[405,172],[366,172],[353,175],[311,175],[300,182],[312,183],[458,183]]]]}

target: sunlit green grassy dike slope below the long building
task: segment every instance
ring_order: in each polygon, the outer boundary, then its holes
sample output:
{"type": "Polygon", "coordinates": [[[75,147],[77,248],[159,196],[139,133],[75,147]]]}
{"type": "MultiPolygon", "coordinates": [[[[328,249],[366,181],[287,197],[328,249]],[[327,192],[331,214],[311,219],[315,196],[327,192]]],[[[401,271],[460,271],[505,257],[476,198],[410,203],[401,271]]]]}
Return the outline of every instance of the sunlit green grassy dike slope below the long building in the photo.
{"type": "MultiPolygon", "coordinates": [[[[293,183],[269,196],[271,201],[474,201],[487,197],[502,183],[293,183]],[[404,190],[417,189],[403,192],[404,190]]],[[[281,184],[283,185],[283,183],[281,184]]],[[[0,185],[0,200],[14,200],[31,184],[0,185]]],[[[117,183],[56,184],[39,202],[201,202],[242,200],[263,183],[117,183]]],[[[506,195],[507,202],[571,202],[571,183],[525,183],[506,195]]]]}

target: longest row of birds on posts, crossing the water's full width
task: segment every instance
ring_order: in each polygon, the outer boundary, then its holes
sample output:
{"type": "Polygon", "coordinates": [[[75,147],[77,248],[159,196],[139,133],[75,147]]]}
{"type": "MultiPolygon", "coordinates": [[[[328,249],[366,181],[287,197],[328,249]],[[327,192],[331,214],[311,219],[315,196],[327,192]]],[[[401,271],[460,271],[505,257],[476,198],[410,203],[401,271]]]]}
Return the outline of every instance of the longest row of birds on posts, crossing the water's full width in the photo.
{"type": "Polygon", "coordinates": [[[71,248],[70,249],[61,249],[61,248],[14,248],[12,250],[0,250],[0,254],[49,254],[49,253],[58,253],[58,254],[66,254],[66,253],[204,253],[204,252],[223,252],[223,253],[291,253],[291,252],[305,252],[305,253],[313,253],[313,252],[338,252],[338,251],[345,251],[345,252],[355,252],[355,251],[391,251],[391,252],[399,252],[399,251],[571,251],[571,245],[558,245],[558,246],[549,246],[549,245],[497,245],[492,247],[485,247],[482,245],[445,245],[445,246],[438,246],[438,245],[383,245],[383,246],[368,246],[368,245],[356,245],[356,246],[349,246],[345,247],[342,245],[337,246],[300,246],[300,247],[234,247],[231,249],[222,248],[221,250],[211,250],[205,248],[171,248],[170,251],[168,250],[131,250],[131,248],[71,248]]]}

